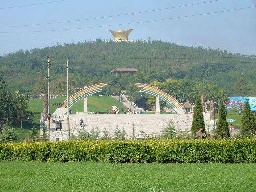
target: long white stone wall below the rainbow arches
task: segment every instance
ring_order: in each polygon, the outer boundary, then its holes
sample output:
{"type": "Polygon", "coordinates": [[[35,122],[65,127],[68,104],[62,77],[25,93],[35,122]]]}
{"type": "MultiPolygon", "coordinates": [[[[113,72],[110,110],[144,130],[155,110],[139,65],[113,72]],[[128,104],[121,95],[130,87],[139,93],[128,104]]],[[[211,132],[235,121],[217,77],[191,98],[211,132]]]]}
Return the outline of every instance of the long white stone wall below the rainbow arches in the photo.
{"type": "MultiPolygon", "coordinates": [[[[118,125],[118,128],[122,130],[124,127],[127,138],[132,137],[132,127],[135,125],[135,135],[138,136],[140,131],[144,131],[147,134],[152,134],[154,132],[156,135],[160,135],[163,126],[167,126],[169,121],[171,120],[178,130],[187,130],[190,131],[192,125],[193,115],[177,115],[177,114],[168,114],[168,115],[160,115],[160,114],[150,114],[150,115],[89,115],[86,113],[79,113],[78,115],[70,115],[70,134],[78,135],[80,126],[80,119],[83,119],[83,124],[86,125],[87,131],[91,131],[98,128],[102,135],[102,131],[106,127],[106,130],[109,134],[114,137],[114,129],[118,125]]],[[[209,114],[204,115],[204,120],[206,124],[206,131],[212,130],[213,125],[210,122],[209,114]]],[[[61,140],[68,139],[68,131],[66,118],[51,118],[51,135],[50,138],[52,141],[55,141],[56,138],[61,140]],[[55,122],[62,123],[62,130],[56,130],[55,122]]]]}

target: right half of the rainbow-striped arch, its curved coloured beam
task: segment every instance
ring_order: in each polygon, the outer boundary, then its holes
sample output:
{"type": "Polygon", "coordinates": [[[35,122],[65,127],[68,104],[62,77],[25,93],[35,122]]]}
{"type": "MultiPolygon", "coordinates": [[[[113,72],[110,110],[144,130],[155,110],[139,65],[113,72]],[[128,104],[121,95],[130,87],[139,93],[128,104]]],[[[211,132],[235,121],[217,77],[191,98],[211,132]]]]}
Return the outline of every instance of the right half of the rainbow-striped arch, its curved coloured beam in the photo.
{"type": "Polygon", "coordinates": [[[154,86],[143,84],[143,83],[135,83],[135,85],[142,88],[140,90],[141,92],[159,97],[160,99],[165,101],[168,105],[170,105],[174,110],[182,109],[182,105],[179,103],[179,101],[177,101],[173,96],[170,96],[166,92],[154,86]]]}

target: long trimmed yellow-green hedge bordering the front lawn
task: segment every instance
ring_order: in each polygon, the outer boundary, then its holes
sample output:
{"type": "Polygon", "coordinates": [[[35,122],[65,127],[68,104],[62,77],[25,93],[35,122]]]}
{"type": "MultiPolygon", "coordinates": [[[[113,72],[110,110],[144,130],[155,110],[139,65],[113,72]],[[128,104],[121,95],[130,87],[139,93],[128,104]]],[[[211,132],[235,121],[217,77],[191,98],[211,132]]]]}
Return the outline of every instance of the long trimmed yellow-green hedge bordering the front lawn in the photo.
{"type": "Polygon", "coordinates": [[[0,144],[0,161],[256,162],[256,139],[64,141],[0,144]]]}

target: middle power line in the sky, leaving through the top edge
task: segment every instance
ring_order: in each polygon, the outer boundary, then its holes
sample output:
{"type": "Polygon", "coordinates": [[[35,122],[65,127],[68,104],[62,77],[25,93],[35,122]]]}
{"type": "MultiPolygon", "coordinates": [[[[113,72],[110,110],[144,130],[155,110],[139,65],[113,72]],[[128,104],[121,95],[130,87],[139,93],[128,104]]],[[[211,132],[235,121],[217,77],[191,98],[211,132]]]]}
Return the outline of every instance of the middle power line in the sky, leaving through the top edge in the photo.
{"type": "Polygon", "coordinates": [[[217,2],[217,1],[221,1],[221,0],[211,0],[211,1],[205,1],[205,2],[187,4],[187,5],[178,5],[178,6],[174,6],[174,7],[160,8],[160,9],[153,9],[153,10],[146,10],[146,11],[139,11],[139,12],[133,12],[133,13],[125,13],[125,14],[119,14],[119,15],[110,15],[110,16],[93,17],[93,18],[85,18],[85,19],[78,19],[78,20],[68,20],[68,21],[56,21],[56,22],[49,22],[49,23],[0,26],[0,28],[38,26],[38,25],[48,25],[48,24],[58,24],[58,23],[69,23],[69,22],[87,21],[87,20],[95,20],[95,19],[105,19],[105,18],[111,18],[111,17],[119,17],[119,16],[126,16],[126,15],[135,15],[135,14],[141,14],[141,13],[148,13],[148,12],[153,12],[153,11],[163,11],[163,10],[169,10],[169,9],[173,9],[173,8],[187,7],[187,6],[198,5],[198,4],[205,4],[205,3],[210,3],[210,2],[217,2]]]}

